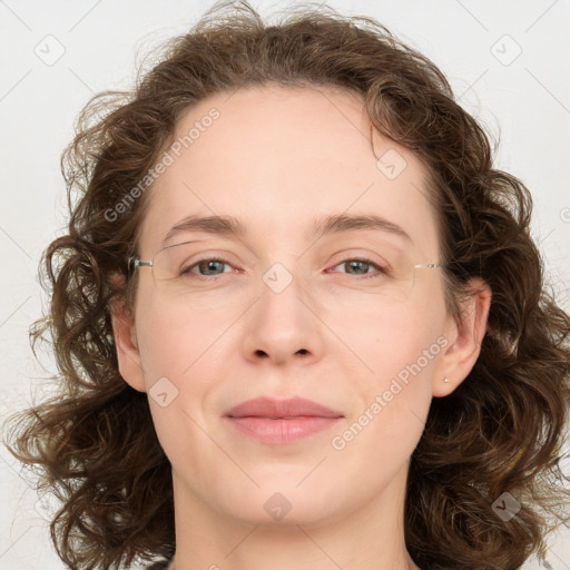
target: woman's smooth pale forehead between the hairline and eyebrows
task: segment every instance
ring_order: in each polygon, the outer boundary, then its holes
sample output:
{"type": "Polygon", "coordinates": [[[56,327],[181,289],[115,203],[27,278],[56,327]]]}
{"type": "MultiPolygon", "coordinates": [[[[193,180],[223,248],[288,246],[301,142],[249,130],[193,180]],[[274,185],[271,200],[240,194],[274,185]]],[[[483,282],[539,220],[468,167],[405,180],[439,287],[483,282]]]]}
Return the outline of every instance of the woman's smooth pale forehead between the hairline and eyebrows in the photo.
{"type": "Polygon", "coordinates": [[[216,94],[178,120],[173,161],[148,190],[140,249],[156,250],[189,215],[233,216],[273,244],[306,238],[318,218],[364,214],[436,252],[423,165],[375,129],[373,153],[370,137],[355,92],[263,86],[216,94]]]}

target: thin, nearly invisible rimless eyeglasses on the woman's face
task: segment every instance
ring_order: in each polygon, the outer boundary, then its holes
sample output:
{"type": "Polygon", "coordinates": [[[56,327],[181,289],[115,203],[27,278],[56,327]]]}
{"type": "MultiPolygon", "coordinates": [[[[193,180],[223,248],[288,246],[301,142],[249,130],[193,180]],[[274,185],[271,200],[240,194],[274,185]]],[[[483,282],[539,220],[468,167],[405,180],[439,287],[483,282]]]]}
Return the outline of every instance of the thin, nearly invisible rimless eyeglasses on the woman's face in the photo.
{"type": "MultiPolygon", "coordinates": [[[[154,282],[161,295],[178,297],[188,293],[199,293],[218,288],[223,284],[229,284],[232,279],[243,278],[243,271],[236,269],[227,261],[213,254],[200,254],[199,243],[185,242],[168,245],[158,250],[148,262],[138,256],[129,259],[129,266],[137,268],[150,267],[154,282]],[[224,271],[224,266],[232,267],[224,271]],[[222,269],[219,273],[218,269],[222,269]],[[212,272],[212,273],[209,273],[212,272]]],[[[323,279],[331,279],[335,286],[352,287],[366,293],[386,295],[396,301],[405,301],[410,297],[416,281],[416,269],[435,269],[444,265],[429,263],[415,264],[409,254],[395,248],[391,244],[379,244],[374,247],[375,255],[338,257],[330,263],[323,279]],[[341,271],[334,271],[338,269],[341,271]],[[344,271],[343,271],[344,269],[344,271]],[[371,271],[372,269],[372,271],[371,271]],[[356,273],[352,273],[352,272],[356,273]]],[[[285,269],[281,269],[285,272],[285,269]]],[[[281,277],[279,274],[277,277],[281,277]]],[[[285,279],[291,277],[285,275],[285,279]]],[[[263,281],[274,291],[275,282],[279,281],[268,268],[263,281]],[[273,279],[267,277],[273,275],[273,279]]],[[[284,279],[281,279],[283,284],[284,279]]],[[[283,289],[283,287],[282,287],[283,289]]],[[[276,291],[281,292],[281,291],[276,291]]]]}

